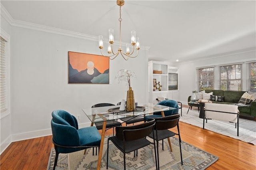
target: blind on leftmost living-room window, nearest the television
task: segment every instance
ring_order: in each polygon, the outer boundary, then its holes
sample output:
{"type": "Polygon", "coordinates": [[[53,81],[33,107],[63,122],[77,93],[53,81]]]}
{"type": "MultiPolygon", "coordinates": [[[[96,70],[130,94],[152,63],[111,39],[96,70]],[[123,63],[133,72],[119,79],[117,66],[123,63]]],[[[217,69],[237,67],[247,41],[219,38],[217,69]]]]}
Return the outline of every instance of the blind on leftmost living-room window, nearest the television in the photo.
{"type": "Polygon", "coordinates": [[[214,67],[197,69],[196,89],[214,89],[214,67]]]}

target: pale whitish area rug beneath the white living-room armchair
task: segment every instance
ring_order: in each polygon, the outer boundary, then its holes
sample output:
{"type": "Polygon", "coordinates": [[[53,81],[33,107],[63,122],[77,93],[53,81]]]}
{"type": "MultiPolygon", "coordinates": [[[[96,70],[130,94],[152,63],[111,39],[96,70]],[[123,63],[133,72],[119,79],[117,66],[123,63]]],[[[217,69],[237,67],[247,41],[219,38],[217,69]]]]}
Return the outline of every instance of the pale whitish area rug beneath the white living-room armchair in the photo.
{"type": "MultiPolygon", "coordinates": [[[[188,114],[187,111],[188,108],[182,108],[180,121],[203,128],[203,119],[199,118],[198,111],[189,110],[188,114]]],[[[226,121],[208,120],[204,128],[256,145],[256,122],[252,120],[239,118],[239,136],[237,136],[235,124],[226,121]]]]}

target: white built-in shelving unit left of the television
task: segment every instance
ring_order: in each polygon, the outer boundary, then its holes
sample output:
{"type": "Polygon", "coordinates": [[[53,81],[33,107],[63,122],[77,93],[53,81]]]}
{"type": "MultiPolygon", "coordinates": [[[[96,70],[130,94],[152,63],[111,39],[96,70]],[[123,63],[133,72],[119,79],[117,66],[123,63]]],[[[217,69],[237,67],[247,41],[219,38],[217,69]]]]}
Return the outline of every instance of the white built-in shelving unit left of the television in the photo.
{"type": "MultiPolygon", "coordinates": [[[[149,102],[156,103],[156,98],[162,96],[168,98],[168,64],[159,61],[148,62],[148,89],[149,89],[149,102]],[[162,73],[153,73],[154,70],[162,71],[162,73]],[[160,82],[161,91],[158,89],[154,90],[153,80],[158,83],[160,82]]],[[[157,88],[159,86],[157,85],[157,88]]]]}

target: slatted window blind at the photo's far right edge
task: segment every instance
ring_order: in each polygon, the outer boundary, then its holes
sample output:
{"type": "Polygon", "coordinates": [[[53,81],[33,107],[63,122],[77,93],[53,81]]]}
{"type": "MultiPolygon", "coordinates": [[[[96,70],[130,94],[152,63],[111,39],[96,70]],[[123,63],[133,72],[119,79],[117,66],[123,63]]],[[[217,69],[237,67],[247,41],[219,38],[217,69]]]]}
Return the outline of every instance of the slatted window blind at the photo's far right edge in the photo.
{"type": "Polygon", "coordinates": [[[247,63],[246,65],[247,91],[256,92],[256,62],[247,63]]]}

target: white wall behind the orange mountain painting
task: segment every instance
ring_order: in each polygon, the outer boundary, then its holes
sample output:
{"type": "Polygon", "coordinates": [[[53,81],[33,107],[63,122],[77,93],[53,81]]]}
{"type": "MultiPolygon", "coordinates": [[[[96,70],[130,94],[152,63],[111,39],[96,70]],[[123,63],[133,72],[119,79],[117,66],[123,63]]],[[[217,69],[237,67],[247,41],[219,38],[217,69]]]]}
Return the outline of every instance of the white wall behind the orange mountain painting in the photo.
{"type": "MultiPolygon", "coordinates": [[[[1,28],[5,24],[1,20],[1,28]]],[[[1,120],[1,152],[2,141],[8,135],[12,136],[12,141],[50,135],[51,113],[55,109],[80,115],[80,127],[90,126],[82,108],[90,108],[96,103],[116,104],[126,99],[126,84],[118,84],[114,79],[120,69],[136,73],[136,78],[131,79],[135,101],[139,105],[148,101],[148,51],[144,47],[136,58],[125,61],[118,56],[110,60],[109,85],[68,84],[68,51],[100,54],[96,39],[92,41],[17,26],[8,30],[12,32],[12,119],[6,117],[1,120]],[[2,125],[8,125],[10,132],[5,132],[2,125]]]]}

